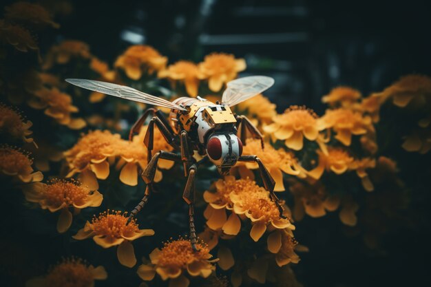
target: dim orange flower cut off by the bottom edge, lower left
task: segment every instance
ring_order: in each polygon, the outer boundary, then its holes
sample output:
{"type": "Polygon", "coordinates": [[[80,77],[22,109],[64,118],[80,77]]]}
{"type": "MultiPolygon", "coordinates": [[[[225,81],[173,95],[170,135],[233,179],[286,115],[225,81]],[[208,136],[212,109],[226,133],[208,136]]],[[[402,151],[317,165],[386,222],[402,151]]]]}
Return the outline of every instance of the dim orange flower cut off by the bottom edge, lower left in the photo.
{"type": "Polygon", "coordinates": [[[28,280],[25,287],[93,287],[94,280],[106,278],[103,266],[95,268],[80,258],[72,257],[50,268],[47,275],[28,280]]]}

